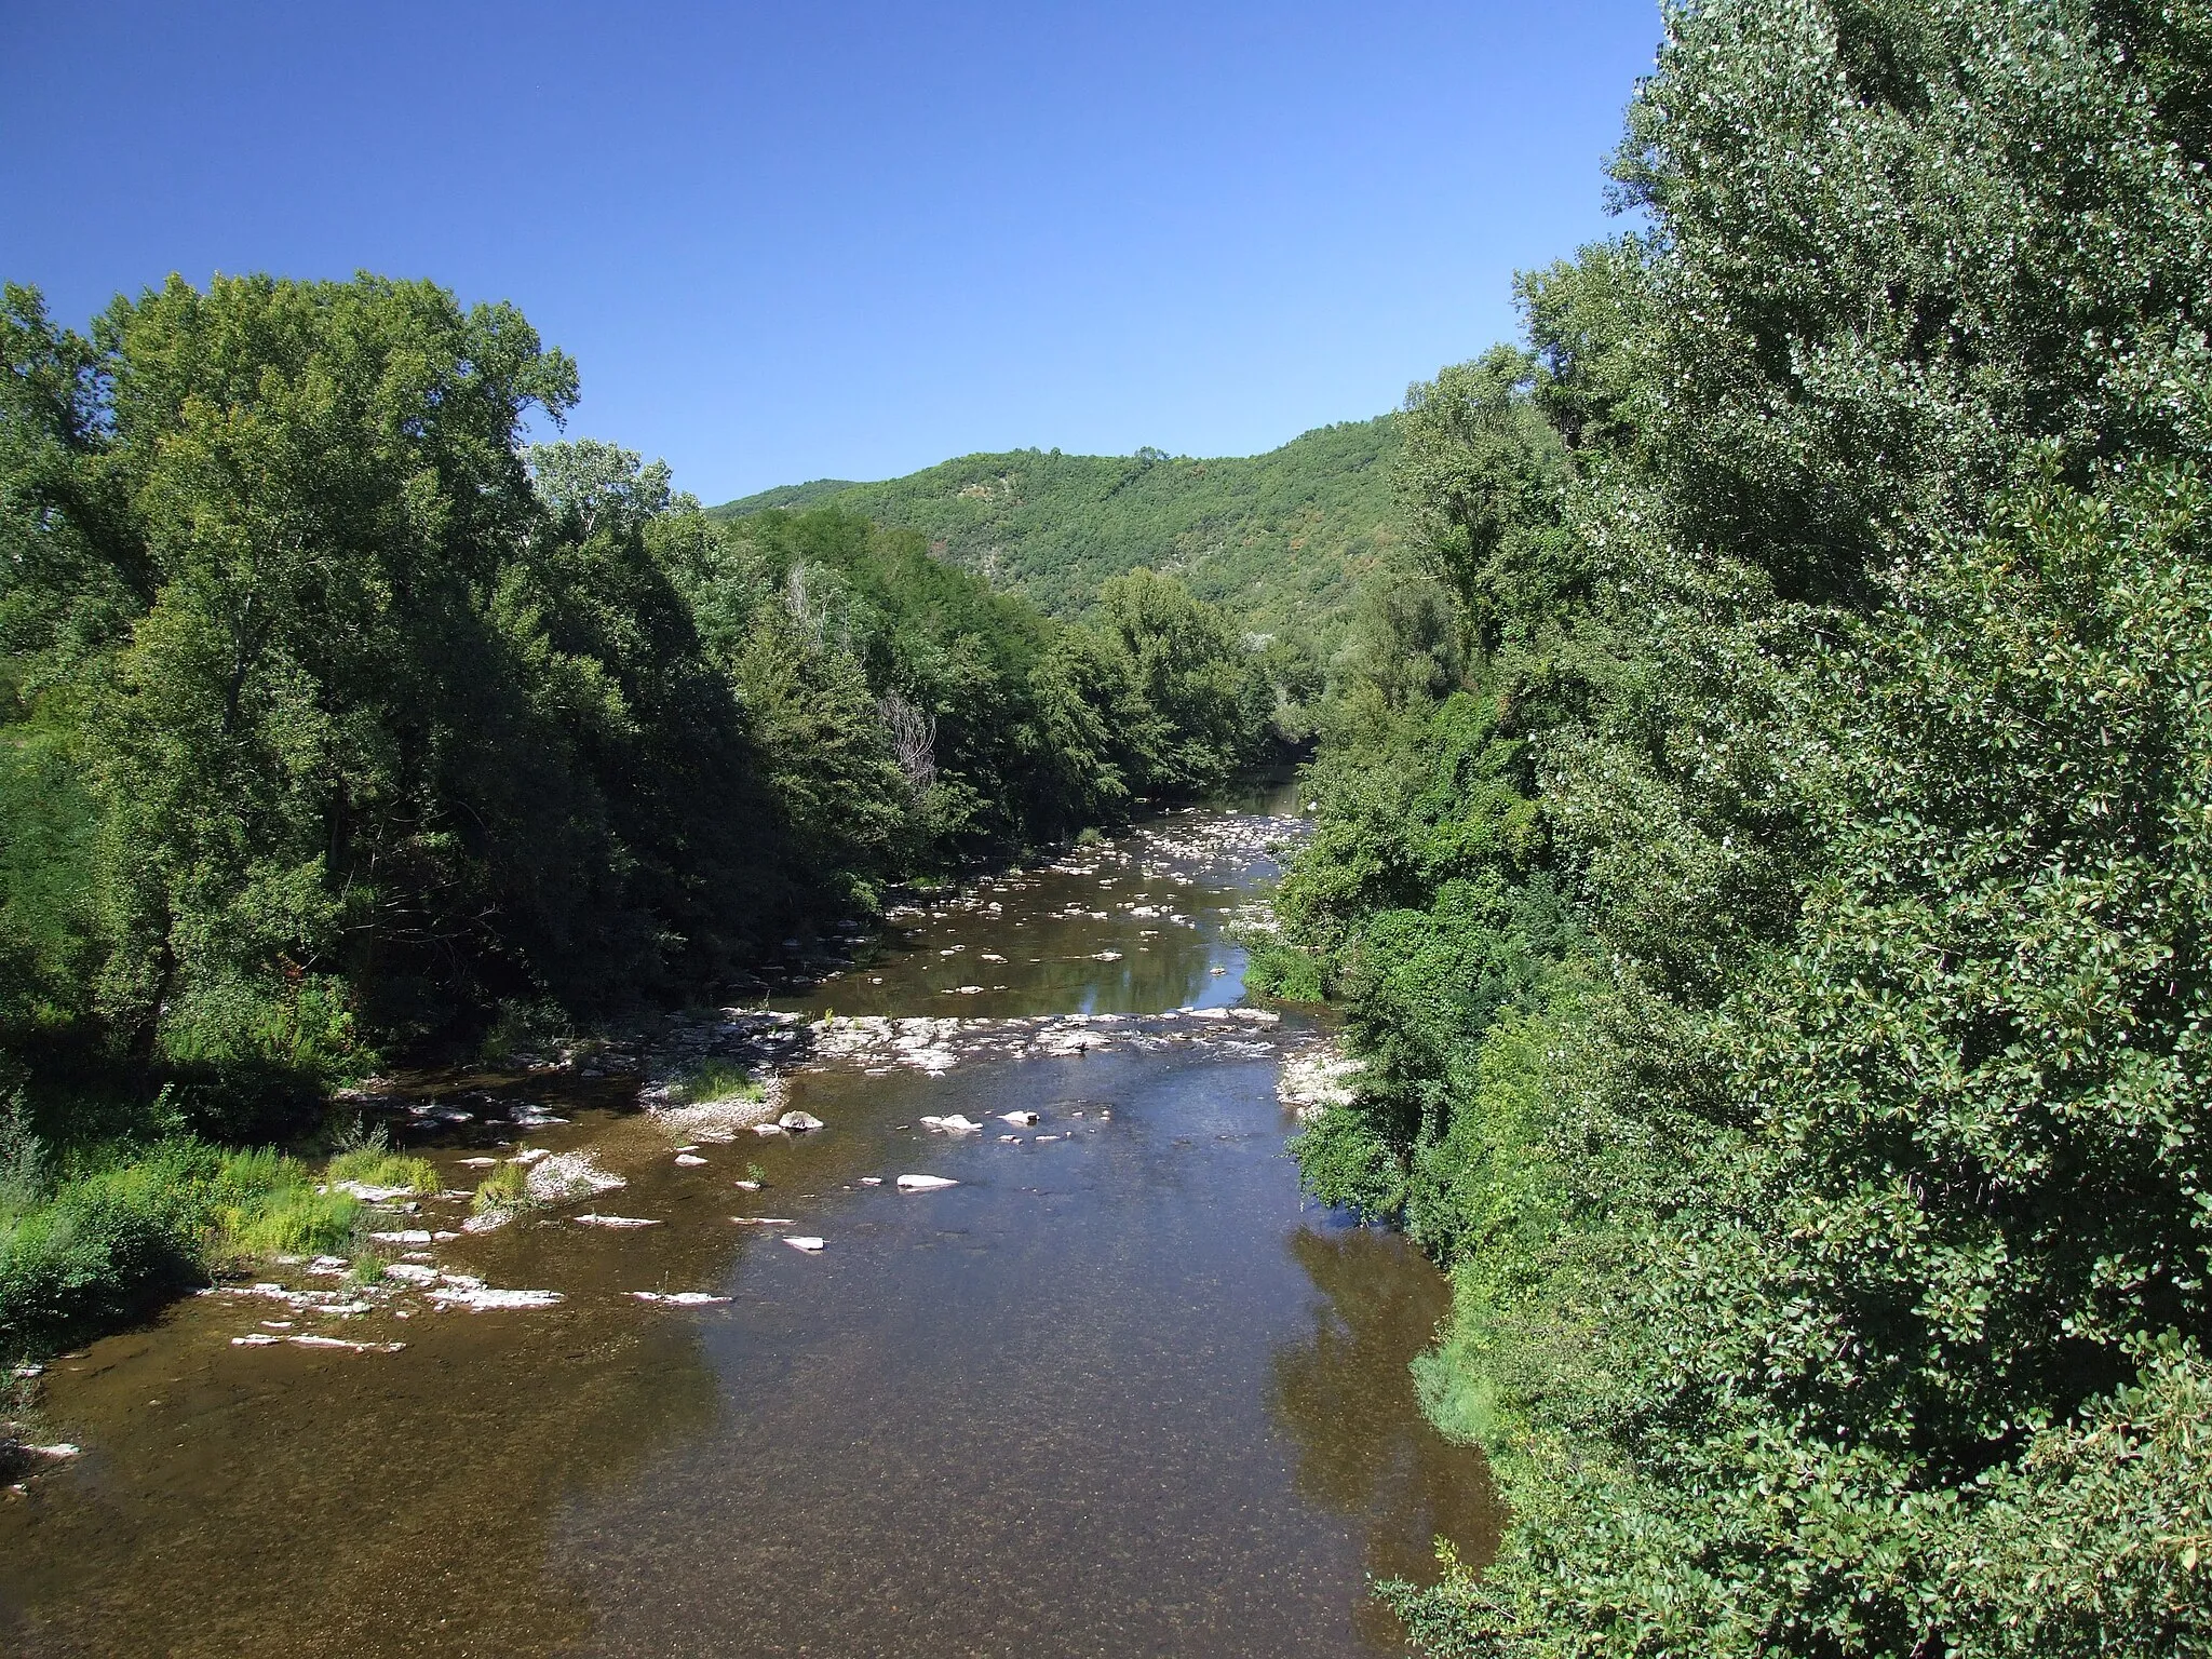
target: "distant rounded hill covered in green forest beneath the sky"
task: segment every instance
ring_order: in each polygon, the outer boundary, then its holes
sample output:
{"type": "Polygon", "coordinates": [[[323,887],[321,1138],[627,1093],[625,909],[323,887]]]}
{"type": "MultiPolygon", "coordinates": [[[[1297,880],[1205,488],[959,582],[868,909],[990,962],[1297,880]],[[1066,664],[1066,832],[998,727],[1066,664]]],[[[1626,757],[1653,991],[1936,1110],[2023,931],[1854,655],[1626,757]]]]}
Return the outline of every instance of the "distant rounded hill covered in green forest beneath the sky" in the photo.
{"type": "Polygon", "coordinates": [[[1389,467],[1398,418],[1318,427],[1265,456],[1190,460],[1015,449],[960,456],[880,484],[821,480],[710,509],[836,504],[980,571],[1053,615],[1075,615],[1099,584],[1148,564],[1225,604],[1261,633],[1343,608],[1389,544],[1389,467]]]}

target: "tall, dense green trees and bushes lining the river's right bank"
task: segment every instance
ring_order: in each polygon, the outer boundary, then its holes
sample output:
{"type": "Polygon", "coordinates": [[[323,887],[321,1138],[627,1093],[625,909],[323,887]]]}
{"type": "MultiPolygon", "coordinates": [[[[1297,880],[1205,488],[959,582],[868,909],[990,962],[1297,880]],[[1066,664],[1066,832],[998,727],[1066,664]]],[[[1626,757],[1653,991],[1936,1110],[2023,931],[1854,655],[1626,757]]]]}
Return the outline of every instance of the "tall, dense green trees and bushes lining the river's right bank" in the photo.
{"type": "Polygon", "coordinates": [[[1670,7],[1402,416],[1276,989],[1515,1511],[1438,1655],[2212,1650],[2212,13],[1670,7]]]}

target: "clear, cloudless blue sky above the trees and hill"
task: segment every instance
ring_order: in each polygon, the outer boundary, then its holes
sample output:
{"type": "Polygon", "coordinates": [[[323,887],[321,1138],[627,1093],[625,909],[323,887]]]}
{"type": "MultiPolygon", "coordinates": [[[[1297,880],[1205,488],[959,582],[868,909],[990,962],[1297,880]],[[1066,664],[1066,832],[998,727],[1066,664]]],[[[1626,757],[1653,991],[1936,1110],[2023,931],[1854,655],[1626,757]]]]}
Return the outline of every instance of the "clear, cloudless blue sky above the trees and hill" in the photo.
{"type": "Polygon", "coordinates": [[[0,4],[0,276],[431,276],[703,500],[1252,453],[1615,230],[1655,0],[0,4]]]}

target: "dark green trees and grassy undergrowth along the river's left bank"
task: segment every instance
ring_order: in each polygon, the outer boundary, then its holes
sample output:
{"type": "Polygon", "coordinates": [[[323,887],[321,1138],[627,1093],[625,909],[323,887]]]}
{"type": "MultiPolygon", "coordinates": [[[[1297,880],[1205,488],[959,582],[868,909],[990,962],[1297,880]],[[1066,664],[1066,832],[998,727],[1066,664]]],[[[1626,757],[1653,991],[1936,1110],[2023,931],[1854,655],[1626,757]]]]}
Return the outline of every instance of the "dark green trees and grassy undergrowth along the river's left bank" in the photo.
{"type": "Polygon", "coordinates": [[[524,447],[575,367],[429,283],[173,279],[91,336],[9,288],[0,352],[0,1354],[338,1248],[343,1194],[219,1148],[380,1057],[712,993],[1294,719],[1172,577],[1068,626],[524,447]]]}

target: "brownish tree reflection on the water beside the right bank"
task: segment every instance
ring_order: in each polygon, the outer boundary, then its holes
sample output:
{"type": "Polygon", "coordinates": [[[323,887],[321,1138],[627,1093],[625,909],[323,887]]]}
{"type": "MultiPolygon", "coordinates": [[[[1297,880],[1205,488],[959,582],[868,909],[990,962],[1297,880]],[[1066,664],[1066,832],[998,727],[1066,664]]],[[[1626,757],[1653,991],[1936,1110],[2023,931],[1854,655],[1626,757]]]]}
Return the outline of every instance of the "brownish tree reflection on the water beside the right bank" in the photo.
{"type": "MultiPolygon", "coordinates": [[[[1433,1584],[1436,1540],[1482,1564],[1498,1548],[1489,1464],[1420,1413],[1411,1358],[1436,1338],[1451,1285],[1398,1234],[1310,1225],[1290,1254],[1316,1294],[1312,1329],[1274,1354],[1267,1407],[1298,1453],[1298,1491],[1365,1531],[1376,1579],[1433,1584]]],[[[1360,1635],[1396,1621],[1369,1601],[1360,1635]]]]}

